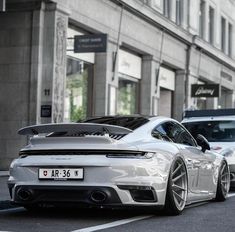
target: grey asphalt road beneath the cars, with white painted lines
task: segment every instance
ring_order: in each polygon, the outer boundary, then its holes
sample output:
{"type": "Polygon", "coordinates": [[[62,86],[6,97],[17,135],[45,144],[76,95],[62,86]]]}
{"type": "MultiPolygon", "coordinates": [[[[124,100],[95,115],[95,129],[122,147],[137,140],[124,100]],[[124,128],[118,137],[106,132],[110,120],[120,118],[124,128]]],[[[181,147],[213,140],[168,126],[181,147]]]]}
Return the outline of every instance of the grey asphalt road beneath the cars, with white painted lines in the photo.
{"type": "Polygon", "coordinates": [[[152,211],[60,209],[28,212],[23,208],[0,210],[0,231],[12,232],[233,232],[235,193],[225,202],[188,207],[180,216],[152,211]]]}

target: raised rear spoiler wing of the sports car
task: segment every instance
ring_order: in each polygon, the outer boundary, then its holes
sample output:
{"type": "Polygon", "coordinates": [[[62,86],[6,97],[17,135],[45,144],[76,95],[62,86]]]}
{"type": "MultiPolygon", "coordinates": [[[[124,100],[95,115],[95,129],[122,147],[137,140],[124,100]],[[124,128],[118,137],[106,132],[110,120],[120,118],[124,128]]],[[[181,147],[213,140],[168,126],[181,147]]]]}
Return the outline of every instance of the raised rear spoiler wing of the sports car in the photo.
{"type": "Polygon", "coordinates": [[[67,133],[107,133],[107,134],[129,134],[132,130],[108,124],[97,123],[56,123],[56,124],[40,124],[21,128],[19,135],[38,135],[49,134],[53,132],[67,133]]]}

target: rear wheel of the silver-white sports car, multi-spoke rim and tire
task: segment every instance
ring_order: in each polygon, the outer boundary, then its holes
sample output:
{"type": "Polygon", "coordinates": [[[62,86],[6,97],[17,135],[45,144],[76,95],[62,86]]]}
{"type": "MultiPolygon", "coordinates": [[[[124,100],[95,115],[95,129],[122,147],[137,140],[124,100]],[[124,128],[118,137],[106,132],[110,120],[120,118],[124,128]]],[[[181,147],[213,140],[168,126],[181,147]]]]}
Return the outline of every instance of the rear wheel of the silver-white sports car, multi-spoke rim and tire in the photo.
{"type": "Polygon", "coordinates": [[[185,163],[177,157],[170,169],[164,211],[167,215],[179,215],[185,208],[188,194],[188,177],[185,163]]]}

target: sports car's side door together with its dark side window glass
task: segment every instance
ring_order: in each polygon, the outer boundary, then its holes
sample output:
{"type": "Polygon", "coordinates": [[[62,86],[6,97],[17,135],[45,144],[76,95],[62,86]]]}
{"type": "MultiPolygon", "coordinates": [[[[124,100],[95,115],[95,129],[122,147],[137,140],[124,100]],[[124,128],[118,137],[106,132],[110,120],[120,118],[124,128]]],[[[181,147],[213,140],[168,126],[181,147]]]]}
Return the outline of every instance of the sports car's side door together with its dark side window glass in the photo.
{"type": "Polygon", "coordinates": [[[188,170],[189,194],[195,200],[208,194],[212,183],[211,163],[196,141],[183,126],[175,121],[168,121],[159,126],[159,131],[174,142],[184,156],[188,170]]]}

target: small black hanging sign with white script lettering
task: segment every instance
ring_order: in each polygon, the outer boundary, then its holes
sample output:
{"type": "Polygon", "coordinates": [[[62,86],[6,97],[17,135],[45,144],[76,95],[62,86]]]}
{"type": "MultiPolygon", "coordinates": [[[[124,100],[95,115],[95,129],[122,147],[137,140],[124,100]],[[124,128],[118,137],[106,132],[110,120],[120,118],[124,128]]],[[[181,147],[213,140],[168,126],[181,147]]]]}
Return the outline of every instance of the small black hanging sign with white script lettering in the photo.
{"type": "Polygon", "coordinates": [[[194,84],[191,87],[191,97],[219,97],[219,84],[194,84]]]}

